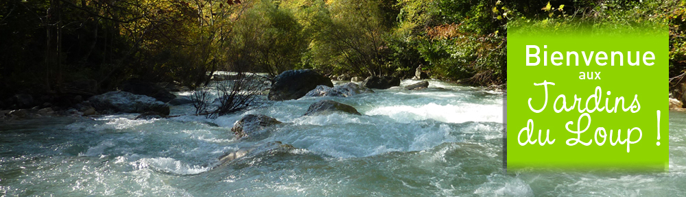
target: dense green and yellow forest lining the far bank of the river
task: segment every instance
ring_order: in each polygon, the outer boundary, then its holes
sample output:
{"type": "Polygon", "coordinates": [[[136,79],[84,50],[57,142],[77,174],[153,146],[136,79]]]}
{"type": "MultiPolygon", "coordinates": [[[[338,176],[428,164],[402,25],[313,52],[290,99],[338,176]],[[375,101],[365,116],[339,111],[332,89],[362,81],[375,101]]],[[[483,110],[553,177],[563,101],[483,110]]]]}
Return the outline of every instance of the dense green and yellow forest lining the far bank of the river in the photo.
{"type": "Polygon", "coordinates": [[[667,24],[672,77],[686,69],[685,20],[686,0],[3,0],[0,99],[127,79],[196,88],[213,70],[405,77],[421,65],[501,85],[507,29],[521,23],[667,24]]]}

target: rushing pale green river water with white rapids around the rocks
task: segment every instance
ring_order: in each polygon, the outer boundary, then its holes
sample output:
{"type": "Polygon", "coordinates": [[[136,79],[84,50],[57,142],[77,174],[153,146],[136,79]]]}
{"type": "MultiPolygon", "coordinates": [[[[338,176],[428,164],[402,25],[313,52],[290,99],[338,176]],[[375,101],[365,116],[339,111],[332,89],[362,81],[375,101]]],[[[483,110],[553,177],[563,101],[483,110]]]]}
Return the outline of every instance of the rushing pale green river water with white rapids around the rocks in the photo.
{"type": "Polygon", "coordinates": [[[216,119],[16,120],[0,125],[0,195],[686,196],[686,114],[670,113],[670,172],[504,174],[502,97],[430,81],[425,90],[305,97],[216,119]],[[302,116],[321,99],[363,115],[302,116]],[[287,124],[264,140],[235,140],[230,127],[246,114],[287,124]],[[217,160],[271,141],[295,149],[217,160]]]}

